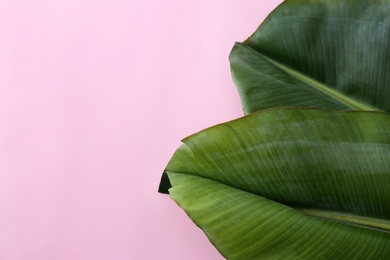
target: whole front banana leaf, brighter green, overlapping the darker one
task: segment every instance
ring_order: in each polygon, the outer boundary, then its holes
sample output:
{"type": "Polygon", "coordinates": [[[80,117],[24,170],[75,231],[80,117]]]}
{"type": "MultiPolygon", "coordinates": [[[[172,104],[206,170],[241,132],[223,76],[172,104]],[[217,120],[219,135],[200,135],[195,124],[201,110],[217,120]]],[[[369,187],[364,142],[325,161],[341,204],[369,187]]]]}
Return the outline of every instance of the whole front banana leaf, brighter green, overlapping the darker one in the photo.
{"type": "Polygon", "coordinates": [[[382,112],[263,110],[184,139],[165,176],[228,259],[386,259],[389,130],[382,112]]]}

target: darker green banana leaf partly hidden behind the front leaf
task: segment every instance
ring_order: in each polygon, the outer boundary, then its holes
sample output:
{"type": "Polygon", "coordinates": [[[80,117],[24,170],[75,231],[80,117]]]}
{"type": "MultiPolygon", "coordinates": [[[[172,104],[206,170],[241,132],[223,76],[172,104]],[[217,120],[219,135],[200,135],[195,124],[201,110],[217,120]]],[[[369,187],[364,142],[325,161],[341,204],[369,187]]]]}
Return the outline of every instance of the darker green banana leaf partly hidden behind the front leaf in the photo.
{"type": "Polygon", "coordinates": [[[230,54],[244,112],[390,112],[389,14],[389,0],[284,1],[230,54]]]}

